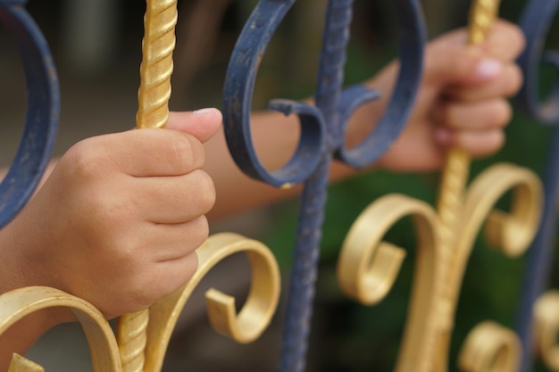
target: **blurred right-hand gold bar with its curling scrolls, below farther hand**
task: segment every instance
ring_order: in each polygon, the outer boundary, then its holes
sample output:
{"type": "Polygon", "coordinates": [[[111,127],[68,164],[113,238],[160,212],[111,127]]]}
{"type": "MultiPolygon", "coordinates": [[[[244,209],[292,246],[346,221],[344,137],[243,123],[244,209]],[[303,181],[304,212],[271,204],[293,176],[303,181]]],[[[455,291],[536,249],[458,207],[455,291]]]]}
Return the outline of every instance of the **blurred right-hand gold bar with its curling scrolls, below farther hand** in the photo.
{"type": "MultiPolygon", "coordinates": [[[[496,19],[499,1],[479,0],[471,7],[469,42],[478,44],[496,19]]],[[[497,164],[466,188],[467,153],[453,149],[441,179],[438,211],[399,194],[372,203],[350,229],[338,261],[341,289],[364,304],[380,302],[394,284],[405,252],[383,242],[390,227],[413,219],[417,261],[412,298],[396,371],[446,372],[455,309],[463,275],[476,237],[485,222],[488,244],[516,257],[538,230],[543,199],[536,174],[513,164],[497,164]],[[505,194],[510,211],[494,211],[505,194]]],[[[517,367],[520,341],[494,323],[476,327],[465,343],[460,364],[468,371],[485,366],[496,371],[517,367]],[[482,341],[480,341],[480,339],[482,341]]]]}

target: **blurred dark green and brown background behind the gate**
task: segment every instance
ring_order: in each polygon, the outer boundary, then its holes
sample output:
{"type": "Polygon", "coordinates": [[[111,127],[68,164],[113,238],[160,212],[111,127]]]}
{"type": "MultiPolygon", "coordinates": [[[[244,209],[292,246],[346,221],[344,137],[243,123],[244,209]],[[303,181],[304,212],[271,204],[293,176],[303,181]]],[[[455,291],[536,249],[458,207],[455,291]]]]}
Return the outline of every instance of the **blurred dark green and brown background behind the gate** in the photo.
{"type": "MultiPolygon", "coordinates": [[[[93,2],[29,1],[29,12],[53,48],[63,88],[61,136],[56,154],[63,153],[80,138],[134,125],[144,4],[98,0],[97,6],[91,7],[93,2]]],[[[463,27],[467,22],[468,1],[424,0],[422,3],[430,37],[463,27]]],[[[221,106],[221,85],[229,55],[254,4],[254,0],[179,1],[171,109],[221,106]]],[[[515,22],[525,4],[525,0],[504,0],[501,14],[515,22]]],[[[254,109],[264,108],[275,97],[300,99],[312,95],[324,7],[324,0],[300,0],[289,12],[264,56],[254,109]]],[[[380,66],[397,56],[394,12],[390,0],[355,1],[347,84],[370,78],[380,66]]],[[[559,45],[558,26],[555,25],[547,40],[550,47],[559,45]]],[[[21,128],[18,123],[22,120],[25,94],[15,50],[4,34],[0,35],[0,46],[3,50],[0,81],[15,81],[9,88],[8,84],[0,88],[0,120],[2,130],[12,133],[13,128],[21,128]],[[4,126],[4,122],[8,125],[4,126]]],[[[542,81],[550,81],[552,76],[553,71],[544,71],[542,81]]],[[[3,138],[8,138],[5,133],[3,138]]],[[[550,129],[516,112],[506,134],[508,139],[502,151],[490,159],[474,161],[472,178],[497,161],[511,161],[541,174],[550,129]]],[[[3,140],[3,152],[8,154],[3,157],[5,163],[9,162],[15,145],[16,141],[3,140]]],[[[408,255],[394,289],[380,305],[364,308],[339,292],[334,277],[336,260],[347,230],[369,203],[385,194],[403,193],[434,204],[437,192],[438,174],[391,174],[382,170],[330,187],[310,356],[313,369],[356,372],[393,368],[413,273],[414,236],[410,221],[402,221],[388,233],[387,240],[405,247],[408,255]]],[[[254,234],[271,247],[284,273],[288,273],[296,232],[296,201],[256,213],[258,219],[265,216],[266,221],[258,224],[257,229],[247,226],[254,219],[245,215],[224,221],[215,229],[239,227],[254,234]]],[[[513,327],[522,269],[522,259],[506,259],[479,239],[464,278],[450,370],[455,370],[457,351],[465,335],[480,321],[493,319],[513,327]]],[[[550,285],[555,286],[557,279],[555,276],[550,285]]],[[[175,347],[179,348],[180,344],[175,347]]],[[[233,365],[229,368],[235,370],[233,365]]]]}

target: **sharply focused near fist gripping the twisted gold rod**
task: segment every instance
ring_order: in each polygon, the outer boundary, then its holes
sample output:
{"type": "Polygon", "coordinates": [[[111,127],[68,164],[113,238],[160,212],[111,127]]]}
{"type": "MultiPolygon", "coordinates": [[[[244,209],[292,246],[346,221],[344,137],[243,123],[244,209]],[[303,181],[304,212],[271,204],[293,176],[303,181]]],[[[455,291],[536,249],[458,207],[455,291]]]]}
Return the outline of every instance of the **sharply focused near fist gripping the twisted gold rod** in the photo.
{"type": "Polygon", "coordinates": [[[53,286],[113,318],[185,284],[215,200],[202,144],[220,124],[217,110],[171,113],[175,130],[135,129],[74,145],[2,231],[17,236],[0,244],[12,279],[25,278],[13,287],[53,286]]]}

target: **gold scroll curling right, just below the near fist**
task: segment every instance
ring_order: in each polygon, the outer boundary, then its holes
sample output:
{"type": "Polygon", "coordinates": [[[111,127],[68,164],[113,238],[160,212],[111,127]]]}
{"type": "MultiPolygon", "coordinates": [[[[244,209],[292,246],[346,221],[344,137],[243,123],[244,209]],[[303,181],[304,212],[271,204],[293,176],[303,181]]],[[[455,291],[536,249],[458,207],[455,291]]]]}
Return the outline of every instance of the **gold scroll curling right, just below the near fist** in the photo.
{"type": "Polygon", "coordinates": [[[217,263],[231,254],[246,252],[252,267],[252,284],[243,308],[237,314],[235,299],[215,289],[206,292],[208,316],[213,327],[239,343],[249,343],[268,327],[280,299],[280,269],[270,250],[252,239],[232,233],[210,236],[197,251],[196,274],[175,293],[150,308],[147,327],[145,372],[160,371],[179,313],[196,285],[217,263]]]}

